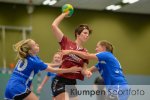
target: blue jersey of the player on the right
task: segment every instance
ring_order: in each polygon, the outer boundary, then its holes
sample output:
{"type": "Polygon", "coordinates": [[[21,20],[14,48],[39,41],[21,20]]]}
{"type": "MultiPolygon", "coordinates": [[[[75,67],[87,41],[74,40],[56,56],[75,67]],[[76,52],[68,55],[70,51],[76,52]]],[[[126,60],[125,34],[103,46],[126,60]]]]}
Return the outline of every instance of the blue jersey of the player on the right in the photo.
{"type": "Polygon", "coordinates": [[[123,85],[127,81],[123,75],[121,65],[111,52],[100,52],[95,65],[104,79],[105,85],[123,85]]]}

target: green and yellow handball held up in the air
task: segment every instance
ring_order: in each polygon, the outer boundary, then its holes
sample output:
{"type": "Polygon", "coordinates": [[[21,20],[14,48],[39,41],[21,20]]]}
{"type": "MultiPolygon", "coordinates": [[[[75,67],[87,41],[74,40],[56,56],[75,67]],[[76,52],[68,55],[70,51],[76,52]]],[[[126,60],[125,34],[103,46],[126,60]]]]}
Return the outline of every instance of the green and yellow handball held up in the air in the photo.
{"type": "Polygon", "coordinates": [[[65,13],[67,11],[69,11],[68,17],[72,16],[74,9],[71,4],[65,4],[62,6],[62,12],[65,13]]]}

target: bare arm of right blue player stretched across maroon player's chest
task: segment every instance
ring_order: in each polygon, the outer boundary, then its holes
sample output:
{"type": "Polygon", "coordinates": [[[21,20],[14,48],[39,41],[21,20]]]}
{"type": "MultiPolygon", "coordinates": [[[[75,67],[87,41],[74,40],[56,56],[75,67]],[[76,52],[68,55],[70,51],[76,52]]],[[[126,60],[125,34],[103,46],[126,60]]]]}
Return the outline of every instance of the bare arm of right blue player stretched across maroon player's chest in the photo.
{"type": "Polygon", "coordinates": [[[75,55],[78,55],[84,59],[96,59],[96,60],[98,60],[96,54],[92,54],[92,53],[76,51],[76,50],[61,50],[61,52],[63,53],[63,55],[75,54],[75,55]]]}

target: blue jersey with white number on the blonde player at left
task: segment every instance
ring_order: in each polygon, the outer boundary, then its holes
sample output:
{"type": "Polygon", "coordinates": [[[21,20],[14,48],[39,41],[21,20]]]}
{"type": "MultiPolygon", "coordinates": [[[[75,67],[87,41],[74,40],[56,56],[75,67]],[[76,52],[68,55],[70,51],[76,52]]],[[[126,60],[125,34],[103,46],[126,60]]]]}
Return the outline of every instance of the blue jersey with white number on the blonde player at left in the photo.
{"type": "Polygon", "coordinates": [[[15,96],[25,93],[30,88],[34,76],[46,68],[47,65],[38,56],[20,59],[8,81],[5,98],[13,99],[15,96]]]}

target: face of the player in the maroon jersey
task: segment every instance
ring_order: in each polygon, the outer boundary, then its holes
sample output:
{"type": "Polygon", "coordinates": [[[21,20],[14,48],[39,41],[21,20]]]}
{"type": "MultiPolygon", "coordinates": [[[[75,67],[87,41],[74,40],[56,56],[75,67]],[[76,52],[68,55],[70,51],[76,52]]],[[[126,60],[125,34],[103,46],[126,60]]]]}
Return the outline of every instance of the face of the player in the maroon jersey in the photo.
{"type": "Polygon", "coordinates": [[[86,42],[89,39],[89,30],[84,29],[80,35],[77,35],[82,42],[86,42]]]}

